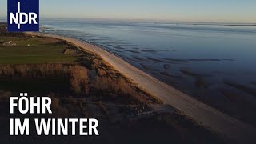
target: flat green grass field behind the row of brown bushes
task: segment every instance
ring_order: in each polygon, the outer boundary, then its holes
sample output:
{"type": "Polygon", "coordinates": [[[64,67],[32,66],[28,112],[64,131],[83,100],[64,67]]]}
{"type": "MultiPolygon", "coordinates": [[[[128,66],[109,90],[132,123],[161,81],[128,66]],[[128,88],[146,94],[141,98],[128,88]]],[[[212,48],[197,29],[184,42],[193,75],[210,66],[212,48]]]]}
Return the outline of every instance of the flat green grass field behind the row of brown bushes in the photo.
{"type": "Polygon", "coordinates": [[[49,38],[0,36],[0,65],[77,62],[77,54],[64,54],[65,42],[52,41],[49,38]],[[10,41],[15,46],[4,45],[10,41]]]}

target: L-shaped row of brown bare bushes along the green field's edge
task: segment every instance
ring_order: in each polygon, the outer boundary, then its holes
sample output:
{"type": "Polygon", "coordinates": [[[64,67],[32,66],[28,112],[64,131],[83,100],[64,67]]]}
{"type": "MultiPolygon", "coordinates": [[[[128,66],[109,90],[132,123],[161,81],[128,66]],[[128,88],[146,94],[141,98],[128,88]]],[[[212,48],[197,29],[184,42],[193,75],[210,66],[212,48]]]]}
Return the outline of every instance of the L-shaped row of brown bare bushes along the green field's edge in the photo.
{"type": "Polygon", "coordinates": [[[76,94],[86,94],[88,70],[83,66],[64,64],[0,66],[0,77],[4,78],[70,78],[70,88],[76,94]]]}

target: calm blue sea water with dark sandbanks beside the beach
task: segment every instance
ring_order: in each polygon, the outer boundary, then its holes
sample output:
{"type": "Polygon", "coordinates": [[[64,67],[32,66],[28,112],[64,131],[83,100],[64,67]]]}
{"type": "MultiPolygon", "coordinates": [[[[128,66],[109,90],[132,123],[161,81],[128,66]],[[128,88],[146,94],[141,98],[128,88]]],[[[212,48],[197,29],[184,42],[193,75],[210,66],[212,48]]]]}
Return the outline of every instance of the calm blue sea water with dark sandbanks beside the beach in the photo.
{"type": "Polygon", "coordinates": [[[256,26],[52,20],[41,30],[102,46],[238,118],[256,110],[256,26]]]}

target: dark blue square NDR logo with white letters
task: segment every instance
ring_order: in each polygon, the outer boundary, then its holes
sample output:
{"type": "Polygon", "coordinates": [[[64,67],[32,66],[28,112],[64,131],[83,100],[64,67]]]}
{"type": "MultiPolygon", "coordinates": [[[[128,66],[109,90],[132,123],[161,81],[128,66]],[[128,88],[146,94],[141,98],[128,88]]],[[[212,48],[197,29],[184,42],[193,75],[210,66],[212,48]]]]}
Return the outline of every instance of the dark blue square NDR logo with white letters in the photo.
{"type": "Polygon", "coordinates": [[[39,31],[39,0],[8,0],[8,31],[39,31]]]}

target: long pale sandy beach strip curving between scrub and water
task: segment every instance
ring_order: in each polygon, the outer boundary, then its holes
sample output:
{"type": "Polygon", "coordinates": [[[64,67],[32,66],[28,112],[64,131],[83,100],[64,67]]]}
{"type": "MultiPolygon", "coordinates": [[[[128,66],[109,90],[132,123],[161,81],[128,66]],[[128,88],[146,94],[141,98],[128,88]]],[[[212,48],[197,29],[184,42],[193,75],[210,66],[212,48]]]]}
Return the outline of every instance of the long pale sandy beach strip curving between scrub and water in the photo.
{"type": "Polygon", "coordinates": [[[206,106],[202,102],[199,102],[173,87],[166,85],[164,82],[153,78],[142,70],[138,70],[138,68],[131,66],[128,62],[125,62],[114,54],[110,54],[106,50],[102,50],[102,48],[98,46],[80,42],[74,38],[65,38],[52,34],[26,34],[39,37],[58,38],[70,42],[74,44],[74,46],[78,46],[81,50],[87,50],[94,54],[98,54],[102,59],[113,66],[114,69],[124,74],[126,78],[129,78],[131,82],[138,84],[142,90],[146,90],[149,94],[154,95],[164,104],[174,106],[174,108],[182,111],[187,117],[194,119],[196,122],[201,123],[202,126],[220,134],[223,138],[228,138],[239,143],[255,141],[253,134],[255,134],[256,130],[254,127],[231,118],[226,114],[222,114],[210,106],[206,106]]]}

